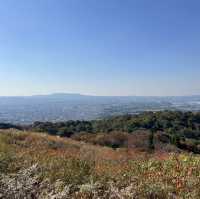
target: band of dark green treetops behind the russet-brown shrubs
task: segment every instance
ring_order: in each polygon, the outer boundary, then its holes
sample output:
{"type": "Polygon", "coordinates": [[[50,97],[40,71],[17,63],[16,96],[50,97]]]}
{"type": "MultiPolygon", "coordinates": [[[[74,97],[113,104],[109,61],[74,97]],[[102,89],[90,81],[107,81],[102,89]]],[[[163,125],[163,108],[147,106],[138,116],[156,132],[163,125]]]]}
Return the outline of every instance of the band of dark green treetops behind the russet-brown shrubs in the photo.
{"type": "Polygon", "coordinates": [[[137,129],[156,129],[180,131],[183,129],[200,130],[200,112],[159,111],[144,112],[138,115],[123,115],[93,121],[35,122],[32,126],[39,131],[49,133],[111,132],[132,133],[137,129]]]}

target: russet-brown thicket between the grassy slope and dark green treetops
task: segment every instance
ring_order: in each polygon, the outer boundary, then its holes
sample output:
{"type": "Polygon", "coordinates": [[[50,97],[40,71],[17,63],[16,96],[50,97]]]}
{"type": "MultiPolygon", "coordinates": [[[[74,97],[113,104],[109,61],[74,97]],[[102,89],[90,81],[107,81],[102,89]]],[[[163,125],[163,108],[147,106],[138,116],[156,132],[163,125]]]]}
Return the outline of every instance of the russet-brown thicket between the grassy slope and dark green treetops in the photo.
{"type": "MultiPolygon", "coordinates": [[[[150,152],[149,130],[136,130],[129,134],[126,132],[113,131],[110,133],[78,133],[71,138],[94,145],[107,146],[113,149],[126,148],[132,152],[150,152]]],[[[181,152],[175,145],[170,144],[169,137],[163,132],[157,132],[154,136],[154,147],[156,152],[181,152]]]]}

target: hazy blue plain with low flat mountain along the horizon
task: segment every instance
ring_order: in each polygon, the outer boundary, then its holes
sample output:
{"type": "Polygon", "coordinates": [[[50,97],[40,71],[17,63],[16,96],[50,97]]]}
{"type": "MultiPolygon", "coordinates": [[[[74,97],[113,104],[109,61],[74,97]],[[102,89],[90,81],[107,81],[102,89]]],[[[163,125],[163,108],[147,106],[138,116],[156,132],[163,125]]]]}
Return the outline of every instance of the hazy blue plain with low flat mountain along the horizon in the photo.
{"type": "Polygon", "coordinates": [[[122,114],[158,110],[199,111],[200,96],[90,96],[54,93],[0,97],[0,122],[93,120],[122,114]]]}

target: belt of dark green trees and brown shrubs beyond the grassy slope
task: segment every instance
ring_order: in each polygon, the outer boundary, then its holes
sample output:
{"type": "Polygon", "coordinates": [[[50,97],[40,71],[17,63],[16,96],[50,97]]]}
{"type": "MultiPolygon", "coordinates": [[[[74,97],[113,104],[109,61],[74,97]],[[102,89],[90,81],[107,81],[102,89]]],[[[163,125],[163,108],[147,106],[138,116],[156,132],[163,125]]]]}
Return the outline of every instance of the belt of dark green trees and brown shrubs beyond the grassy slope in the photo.
{"type": "Polygon", "coordinates": [[[127,147],[129,135],[133,135],[132,139],[135,136],[138,141],[140,137],[146,139],[150,150],[155,149],[159,142],[200,153],[199,112],[161,111],[94,121],[35,122],[29,129],[113,148],[127,147]]]}

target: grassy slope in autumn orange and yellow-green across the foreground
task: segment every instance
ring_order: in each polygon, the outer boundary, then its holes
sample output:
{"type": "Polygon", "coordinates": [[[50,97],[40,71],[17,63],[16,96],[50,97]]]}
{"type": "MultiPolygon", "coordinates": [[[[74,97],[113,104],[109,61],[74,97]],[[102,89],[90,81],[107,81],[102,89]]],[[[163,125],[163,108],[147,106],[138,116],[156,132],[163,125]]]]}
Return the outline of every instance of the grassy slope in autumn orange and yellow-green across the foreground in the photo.
{"type": "Polygon", "coordinates": [[[0,132],[0,172],[3,198],[9,187],[8,198],[49,198],[52,190],[63,193],[57,198],[200,198],[198,155],[113,150],[16,130],[0,132]],[[30,168],[36,172],[27,174],[30,168]],[[20,193],[12,179],[27,188],[20,193]]]}

